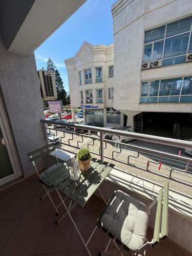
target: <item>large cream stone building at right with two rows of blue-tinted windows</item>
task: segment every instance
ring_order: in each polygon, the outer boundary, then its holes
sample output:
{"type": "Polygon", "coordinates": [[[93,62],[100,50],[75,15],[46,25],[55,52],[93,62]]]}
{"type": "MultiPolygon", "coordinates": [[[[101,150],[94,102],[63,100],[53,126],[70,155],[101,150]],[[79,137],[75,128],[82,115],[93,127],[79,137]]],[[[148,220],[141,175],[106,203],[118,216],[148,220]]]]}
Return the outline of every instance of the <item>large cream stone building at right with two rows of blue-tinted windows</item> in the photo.
{"type": "Polygon", "coordinates": [[[118,0],[112,15],[114,108],[127,115],[127,125],[146,127],[148,119],[151,126],[190,126],[191,1],[118,0]]]}

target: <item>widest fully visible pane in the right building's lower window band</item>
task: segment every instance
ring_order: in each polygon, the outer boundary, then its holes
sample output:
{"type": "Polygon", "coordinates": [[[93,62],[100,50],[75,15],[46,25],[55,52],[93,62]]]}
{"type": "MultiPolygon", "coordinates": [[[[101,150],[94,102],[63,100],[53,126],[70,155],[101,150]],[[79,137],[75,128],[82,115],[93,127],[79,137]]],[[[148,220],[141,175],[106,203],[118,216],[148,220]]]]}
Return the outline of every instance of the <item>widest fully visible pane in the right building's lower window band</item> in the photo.
{"type": "Polygon", "coordinates": [[[182,78],[161,80],[159,96],[179,95],[181,84],[182,84],[182,78]]]}

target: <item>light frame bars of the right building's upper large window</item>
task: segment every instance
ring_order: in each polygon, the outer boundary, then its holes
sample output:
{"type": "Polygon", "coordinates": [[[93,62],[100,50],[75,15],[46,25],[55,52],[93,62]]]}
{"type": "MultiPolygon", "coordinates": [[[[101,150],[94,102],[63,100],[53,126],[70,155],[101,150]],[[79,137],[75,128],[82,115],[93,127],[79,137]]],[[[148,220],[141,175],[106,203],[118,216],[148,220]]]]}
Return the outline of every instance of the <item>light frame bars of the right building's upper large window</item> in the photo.
{"type": "MultiPolygon", "coordinates": [[[[189,16],[189,17],[190,17],[190,16],[189,16]]],[[[187,17],[186,17],[186,18],[187,18],[187,17]]],[[[182,18],[182,19],[183,19],[183,18],[182,18]]],[[[178,19],[178,20],[176,20],[176,22],[177,22],[177,21],[180,21],[180,20],[182,20],[182,19],[178,19]]],[[[177,33],[177,34],[174,34],[174,35],[171,35],[171,36],[166,36],[167,25],[172,24],[172,23],[174,23],[174,22],[170,22],[170,23],[165,24],[164,38],[161,38],[161,39],[154,40],[154,41],[147,42],[147,43],[144,43],[144,44],[143,44],[142,63],[144,63],[144,62],[153,62],[153,61],[156,61],[155,59],[153,59],[153,58],[154,58],[154,45],[155,45],[156,42],[162,41],[162,40],[163,40],[163,51],[162,51],[162,58],[161,58],[161,59],[162,59],[162,63],[163,63],[163,60],[165,60],[165,59],[170,59],[170,58],[175,58],[175,57],[180,57],[180,56],[185,56],[185,60],[186,60],[186,56],[187,56],[188,53],[189,53],[188,51],[189,51],[190,38],[191,38],[191,31],[192,31],[192,21],[191,21],[191,25],[190,25],[190,30],[187,30],[187,31],[182,32],[182,33],[177,33]],[[172,57],[166,57],[166,58],[164,58],[165,40],[166,40],[166,39],[169,39],[169,38],[172,38],[172,37],[179,36],[179,35],[187,34],[187,33],[189,33],[189,36],[188,36],[188,42],[187,42],[186,53],[185,53],[185,54],[181,54],[181,55],[175,55],[175,56],[172,56],[172,57]],[[144,50],[145,50],[145,46],[147,46],[147,45],[152,45],[151,60],[144,61],[144,60],[143,60],[143,59],[144,59],[144,50]]],[[[158,26],[157,28],[159,28],[159,27],[162,27],[162,26],[158,26]]],[[[144,31],[144,34],[145,34],[145,32],[150,31],[150,30],[151,30],[151,29],[145,30],[145,31],[144,31]]],[[[144,38],[145,38],[145,35],[144,35],[144,38]]],[[[159,60],[159,59],[157,59],[157,60],[159,60]]],[[[185,62],[182,62],[182,63],[185,63],[185,62]]],[[[177,65],[177,64],[173,64],[173,65],[177,65]]],[[[170,66],[170,65],[167,65],[167,66],[170,66]]],[[[163,67],[167,67],[167,66],[163,66],[163,67]]]]}

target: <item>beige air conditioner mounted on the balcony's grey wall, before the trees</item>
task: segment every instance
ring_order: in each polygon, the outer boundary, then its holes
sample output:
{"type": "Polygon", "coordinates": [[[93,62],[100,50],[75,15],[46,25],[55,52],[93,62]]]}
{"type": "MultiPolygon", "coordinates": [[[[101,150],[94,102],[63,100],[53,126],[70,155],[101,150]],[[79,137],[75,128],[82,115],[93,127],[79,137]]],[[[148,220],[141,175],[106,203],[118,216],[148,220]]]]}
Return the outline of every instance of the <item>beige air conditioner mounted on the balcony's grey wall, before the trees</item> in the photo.
{"type": "Polygon", "coordinates": [[[39,70],[37,73],[40,81],[42,100],[57,99],[57,89],[54,72],[48,70],[39,70]]]}

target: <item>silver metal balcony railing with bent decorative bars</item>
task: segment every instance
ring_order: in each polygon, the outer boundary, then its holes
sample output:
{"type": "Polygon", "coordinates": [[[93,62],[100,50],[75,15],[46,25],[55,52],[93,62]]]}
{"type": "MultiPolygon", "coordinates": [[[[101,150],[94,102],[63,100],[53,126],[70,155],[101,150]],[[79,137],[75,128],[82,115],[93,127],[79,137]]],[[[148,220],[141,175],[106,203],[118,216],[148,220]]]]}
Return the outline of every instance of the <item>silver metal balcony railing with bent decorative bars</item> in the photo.
{"type": "MultiPolygon", "coordinates": [[[[41,119],[40,121],[42,123],[60,124],[63,126],[63,122],[59,121],[49,121],[45,119],[41,119]]],[[[76,134],[70,131],[45,127],[44,125],[45,129],[49,131],[55,131],[56,136],[58,136],[58,133],[62,133],[62,136],[60,136],[60,143],[62,145],[66,145],[74,149],[79,149],[82,145],[87,146],[90,148],[91,153],[100,156],[101,160],[104,158],[111,159],[119,163],[139,168],[145,172],[174,180],[188,186],[192,186],[192,158],[174,155],[138,145],[103,139],[103,133],[125,136],[132,139],[175,146],[179,148],[188,148],[189,150],[192,150],[192,142],[190,141],[124,132],[120,130],[105,129],[102,127],[82,124],[66,123],[65,126],[76,127],[86,131],[100,132],[100,137],[88,134],[76,134]],[[70,134],[70,136],[67,138],[66,134],[70,134]],[[92,150],[93,147],[98,149],[97,152],[92,150]],[[109,150],[111,155],[104,155],[104,151],[107,150],[108,147],[111,147],[109,150]],[[118,156],[120,156],[120,158],[118,158],[118,156]],[[159,169],[159,166],[161,166],[161,170],[159,169]],[[177,177],[174,177],[173,174],[176,174],[177,177]],[[185,180],[181,179],[183,177],[185,177],[185,180]],[[191,179],[191,182],[187,181],[186,178],[191,179]]],[[[66,148],[65,151],[74,153],[70,150],[67,150],[66,148]]]]}

